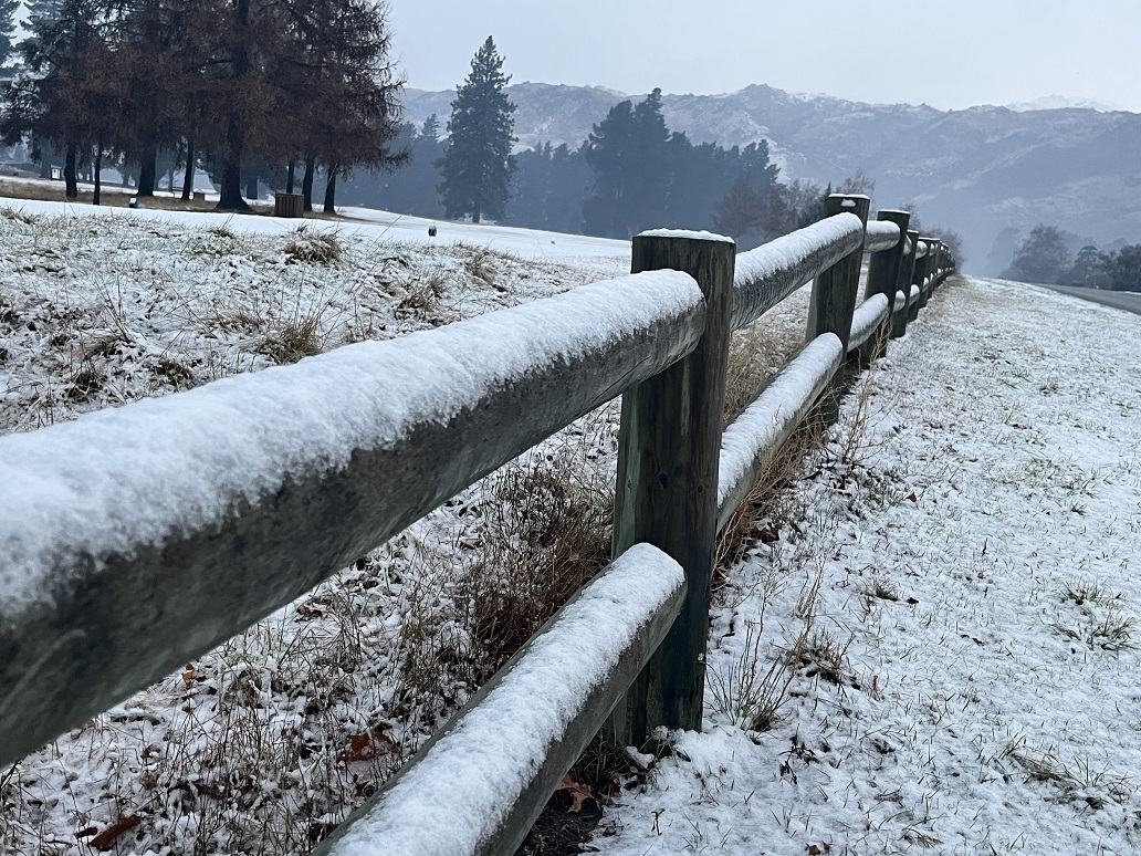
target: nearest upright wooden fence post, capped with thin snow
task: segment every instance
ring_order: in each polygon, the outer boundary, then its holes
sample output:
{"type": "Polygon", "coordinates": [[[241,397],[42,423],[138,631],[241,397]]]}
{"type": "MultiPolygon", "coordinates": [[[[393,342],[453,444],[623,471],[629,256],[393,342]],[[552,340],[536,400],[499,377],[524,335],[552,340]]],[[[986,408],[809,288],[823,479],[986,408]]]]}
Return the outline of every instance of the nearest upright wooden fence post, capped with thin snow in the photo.
{"type": "Polygon", "coordinates": [[[633,240],[632,272],[690,274],[706,314],[689,356],[622,396],[613,552],[654,544],[685,570],[687,591],[665,641],[610,714],[606,732],[620,746],[644,745],[659,725],[702,727],[735,261],[730,239],[654,232],[633,240]]]}

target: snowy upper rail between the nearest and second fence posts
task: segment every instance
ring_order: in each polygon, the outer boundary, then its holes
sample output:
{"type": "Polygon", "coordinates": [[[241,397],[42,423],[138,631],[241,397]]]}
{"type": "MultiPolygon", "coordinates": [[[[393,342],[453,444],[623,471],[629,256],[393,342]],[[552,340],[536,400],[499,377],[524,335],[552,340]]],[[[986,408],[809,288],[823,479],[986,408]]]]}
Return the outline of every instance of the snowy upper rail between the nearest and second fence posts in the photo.
{"type": "Polygon", "coordinates": [[[739,330],[832,267],[864,240],[864,224],[839,213],[737,256],[731,326],[739,330]]]}

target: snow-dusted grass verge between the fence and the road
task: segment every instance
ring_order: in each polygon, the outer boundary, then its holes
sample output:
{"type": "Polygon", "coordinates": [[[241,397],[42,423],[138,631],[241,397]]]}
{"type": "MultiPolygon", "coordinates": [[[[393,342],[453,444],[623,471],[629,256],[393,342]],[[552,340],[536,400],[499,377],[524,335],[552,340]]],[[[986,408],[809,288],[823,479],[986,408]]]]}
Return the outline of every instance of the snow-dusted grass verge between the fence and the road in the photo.
{"type": "Polygon", "coordinates": [[[1043,289],[939,292],[804,473],[802,519],[721,591],[705,732],[593,846],[1141,849],[1139,342],[1141,318],[1043,289]],[[741,697],[790,656],[750,729],[741,697]]]}

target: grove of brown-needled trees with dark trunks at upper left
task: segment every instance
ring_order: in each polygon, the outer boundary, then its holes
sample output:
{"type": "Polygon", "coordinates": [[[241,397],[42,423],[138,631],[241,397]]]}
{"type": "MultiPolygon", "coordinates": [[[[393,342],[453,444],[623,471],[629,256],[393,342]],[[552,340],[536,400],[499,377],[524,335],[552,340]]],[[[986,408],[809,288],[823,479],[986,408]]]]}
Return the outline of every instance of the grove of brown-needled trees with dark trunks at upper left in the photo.
{"type": "MultiPolygon", "coordinates": [[[[2,1],[2,0],[0,0],[2,1]]],[[[2,13],[2,9],[0,9],[2,13]]],[[[136,164],[155,188],[160,152],[185,169],[215,161],[219,208],[248,210],[243,178],[296,170],[311,208],[354,168],[393,168],[400,81],[385,7],[373,0],[31,0],[21,71],[3,92],[0,137],[62,154],[68,199],[78,169],[136,164]]]]}

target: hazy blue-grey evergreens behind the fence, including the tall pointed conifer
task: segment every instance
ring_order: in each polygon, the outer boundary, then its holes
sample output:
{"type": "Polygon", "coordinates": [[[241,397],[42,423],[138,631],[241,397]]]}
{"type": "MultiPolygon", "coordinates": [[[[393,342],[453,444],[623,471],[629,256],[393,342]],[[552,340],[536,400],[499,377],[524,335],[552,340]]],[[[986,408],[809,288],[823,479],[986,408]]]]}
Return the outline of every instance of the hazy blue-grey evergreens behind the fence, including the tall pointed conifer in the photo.
{"type": "MultiPolygon", "coordinates": [[[[504,225],[626,239],[646,228],[711,228],[748,249],[824,216],[832,185],[783,184],[766,140],[725,148],[671,131],[662,91],[624,100],[580,146],[547,143],[512,153],[510,78],[488,38],[456,90],[447,136],[438,116],[400,126],[396,146],[408,159],[378,183],[355,180],[356,204],[429,218],[487,217],[504,225]]],[[[837,193],[872,195],[863,172],[837,193]]],[[[958,235],[944,237],[961,252],[958,235]]]]}

